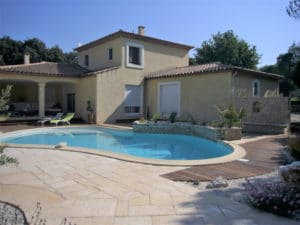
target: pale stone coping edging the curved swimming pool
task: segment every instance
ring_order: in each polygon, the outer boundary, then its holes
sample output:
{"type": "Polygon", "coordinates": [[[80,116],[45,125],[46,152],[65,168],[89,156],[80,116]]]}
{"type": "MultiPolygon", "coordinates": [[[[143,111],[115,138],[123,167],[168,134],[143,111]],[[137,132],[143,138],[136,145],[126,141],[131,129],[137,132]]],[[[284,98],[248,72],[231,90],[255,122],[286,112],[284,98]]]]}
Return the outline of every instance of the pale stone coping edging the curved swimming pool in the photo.
{"type": "MultiPolygon", "coordinates": [[[[89,126],[89,125],[87,125],[89,126]]],[[[54,129],[60,129],[60,128],[66,128],[69,126],[61,126],[61,127],[55,127],[54,129]]],[[[79,128],[83,126],[72,126],[72,128],[79,128]]],[[[99,126],[89,126],[89,127],[99,127],[99,126]]],[[[100,126],[101,127],[101,126],[100,126]]],[[[105,127],[105,126],[103,126],[105,127]]],[[[0,137],[3,136],[10,136],[13,134],[23,133],[24,131],[36,131],[36,130],[47,130],[48,128],[35,128],[35,129],[28,129],[28,130],[22,130],[22,131],[15,131],[15,132],[8,132],[5,134],[0,135],[0,137]]],[[[33,145],[33,144],[6,144],[7,147],[13,147],[13,148],[31,148],[31,149],[47,149],[47,150],[59,150],[59,151],[69,151],[69,152],[78,152],[78,153],[86,153],[91,155],[98,155],[98,156],[104,156],[108,158],[115,158],[127,162],[134,162],[134,163],[141,163],[141,164],[149,164],[149,165],[158,165],[158,166],[196,166],[196,165],[209,165],[209,164],[218,164],[218,163],[224,163],[224,162],[230,162],[234,161],[240,158],[243,158],[246,155],[246,151],[244,148],[242,148],[239,145],[225,142],[225,144],[232,147],[233,152],[229,155],[211,158],[211,159],[201,159],[201,160],[159,160],[159,159],[148,159],[148,158],[141,158],[141,157],[135,157],[125,154],[117,154],[105,150],[99,150],[99,149],[88,149],[88,148],[82,148],[82,147],[69,147],[69,146],[60,146],[60,148],[56,148],[52,145],[33,145]]]]}

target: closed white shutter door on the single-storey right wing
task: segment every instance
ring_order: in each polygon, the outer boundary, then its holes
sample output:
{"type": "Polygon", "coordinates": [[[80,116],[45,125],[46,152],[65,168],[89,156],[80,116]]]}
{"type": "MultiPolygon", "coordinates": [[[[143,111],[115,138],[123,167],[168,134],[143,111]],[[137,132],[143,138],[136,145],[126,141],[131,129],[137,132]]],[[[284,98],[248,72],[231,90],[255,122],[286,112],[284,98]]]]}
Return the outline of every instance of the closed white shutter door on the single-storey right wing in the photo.
{"type": "Polygon", "coordinates": [[[162,116],[169,116],[172,112],[180,113],[180,83],[159,84],[159,112],[162,116]]]}

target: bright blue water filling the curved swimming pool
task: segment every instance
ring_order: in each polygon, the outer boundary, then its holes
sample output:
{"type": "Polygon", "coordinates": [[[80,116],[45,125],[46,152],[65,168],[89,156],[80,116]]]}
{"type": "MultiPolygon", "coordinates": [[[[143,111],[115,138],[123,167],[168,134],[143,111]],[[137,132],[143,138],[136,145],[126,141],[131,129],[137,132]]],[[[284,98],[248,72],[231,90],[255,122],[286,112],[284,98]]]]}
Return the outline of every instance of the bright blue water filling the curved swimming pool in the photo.
{"type": "Polygon", "coordinates": [[[222,142],[174,134],[142,134],[107,128],[47,128],[0,137],[0,142],[57,145],[105,150],[136,157],[198,160],[224,156],[232,148],[222,142]]]}

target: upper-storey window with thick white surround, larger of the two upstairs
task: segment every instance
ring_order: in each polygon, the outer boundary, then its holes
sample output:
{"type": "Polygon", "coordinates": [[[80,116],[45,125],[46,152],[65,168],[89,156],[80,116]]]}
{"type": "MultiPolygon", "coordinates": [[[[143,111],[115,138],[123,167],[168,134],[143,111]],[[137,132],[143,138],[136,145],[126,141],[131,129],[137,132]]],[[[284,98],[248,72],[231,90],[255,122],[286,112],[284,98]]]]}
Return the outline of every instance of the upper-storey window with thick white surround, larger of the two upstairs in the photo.
{"type": "Polygon", "coordinates": [[[127,43],[126,66],[144,68],[144,46],[135,43],[127,43]]]}

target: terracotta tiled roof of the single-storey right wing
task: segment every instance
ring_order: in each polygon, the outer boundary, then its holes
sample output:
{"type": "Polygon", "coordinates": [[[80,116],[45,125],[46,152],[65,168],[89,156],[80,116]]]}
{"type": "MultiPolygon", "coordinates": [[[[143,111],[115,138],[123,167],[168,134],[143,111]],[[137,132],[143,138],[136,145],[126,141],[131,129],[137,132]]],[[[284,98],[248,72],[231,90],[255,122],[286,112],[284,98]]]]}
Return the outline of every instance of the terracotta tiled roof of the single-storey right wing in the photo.
{"type": "Polygon", "coordinates": [[[178,76],[191,76],[198,75],[203,73],[216,73],[216,72],[225,72],[225,71],[244,71],[249,73],[260,74],[262,76],[267,76],[274,79],[281,79],[282,76],[272,73],[265,73],[258,70],[245,69],[237,66],[225,65],[219,62],[206,63],[195,66],[185,66],[185,67],[176,67],[166,70],[161,70],[153,72],[145,76],[145,79],[157,79],[157,78],[168,78],[168,77],[178,77],[178,76]]]}

